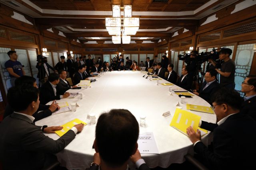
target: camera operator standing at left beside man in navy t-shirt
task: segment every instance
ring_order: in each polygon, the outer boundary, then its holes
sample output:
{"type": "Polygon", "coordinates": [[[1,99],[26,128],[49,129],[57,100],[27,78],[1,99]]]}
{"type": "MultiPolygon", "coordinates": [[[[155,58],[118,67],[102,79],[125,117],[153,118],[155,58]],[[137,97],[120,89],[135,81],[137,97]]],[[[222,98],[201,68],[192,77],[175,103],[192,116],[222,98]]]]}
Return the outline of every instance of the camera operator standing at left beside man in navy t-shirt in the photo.
{"type": "Polygon", "coordinates": [[[40,61],[36,64],[36,68],[38,69],[37,78],[39,78],[41,84],[44,84],[48,80],[48,76],[50,74],[50,69],[54,72],[58,72],[52,66],[47,63],[47,57],[43,57],[42,55],[38,55],[40,61]]]}

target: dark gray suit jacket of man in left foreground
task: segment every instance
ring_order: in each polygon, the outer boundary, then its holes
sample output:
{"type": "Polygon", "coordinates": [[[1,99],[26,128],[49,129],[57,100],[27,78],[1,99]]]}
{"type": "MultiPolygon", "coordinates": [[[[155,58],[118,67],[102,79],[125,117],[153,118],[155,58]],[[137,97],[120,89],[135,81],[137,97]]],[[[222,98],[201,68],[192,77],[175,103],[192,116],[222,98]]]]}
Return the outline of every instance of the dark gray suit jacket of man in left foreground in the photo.
{"type": "Polygon", "coordinates": [[[0,161],[6,170],[40,170],[47,154],[63,150],[76,134],[70,130],[58,140],[44,135],[41,126],[36,126],[24,115],[12,113],[0,124],[0,161]]]}

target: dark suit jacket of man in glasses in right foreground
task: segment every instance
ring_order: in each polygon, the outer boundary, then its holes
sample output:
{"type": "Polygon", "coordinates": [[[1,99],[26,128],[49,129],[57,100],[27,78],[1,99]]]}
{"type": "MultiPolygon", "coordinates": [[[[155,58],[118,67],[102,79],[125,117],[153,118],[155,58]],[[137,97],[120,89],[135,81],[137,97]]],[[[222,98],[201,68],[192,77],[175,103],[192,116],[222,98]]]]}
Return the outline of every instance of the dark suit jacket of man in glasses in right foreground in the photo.
{"type": "Polygon", "coordinates": [[[255,169],[256,122],[250,116],[236,113],[219,126],[202,121],[201,128],[213,132],[213,152],[202,142],[196,143],[194,151],[209,166],[216,170],[255,169]]]}

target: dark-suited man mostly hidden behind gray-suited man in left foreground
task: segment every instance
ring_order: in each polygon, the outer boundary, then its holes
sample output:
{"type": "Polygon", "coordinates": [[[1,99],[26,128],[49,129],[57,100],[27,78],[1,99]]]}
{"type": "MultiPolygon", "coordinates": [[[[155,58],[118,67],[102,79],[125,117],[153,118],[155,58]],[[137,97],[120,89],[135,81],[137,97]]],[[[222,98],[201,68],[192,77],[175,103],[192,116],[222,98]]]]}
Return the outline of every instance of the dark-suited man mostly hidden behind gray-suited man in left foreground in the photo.
{"type": "MultiPolygon", "coordinates": [[[[37,84],[36,84],[36,79],[31,76],[21,76],[19,78],[16,78],[14,84],[15,84],[15,86],[38,88],[37,84]]],[[[35,118],[34,122],[52,115],[52,112],[55,111],[57,108],[60,109],[60,107],[58,106],[58,103],[55,103],[55,102],[56,102],[56,100],[54,100],[51,105],[39,104],[37,111],[32,115],[35,118]],[[38,113],[38,111],[40,111],[40,112],[38,113]]],[[[8,103],[4,110],[3,119],[5,117],[7,117],[8,115],[11,115],[13,112],[14,112],[14,110],[12,109],[12,107],[10,107],[10,105],[8,103]]]]}

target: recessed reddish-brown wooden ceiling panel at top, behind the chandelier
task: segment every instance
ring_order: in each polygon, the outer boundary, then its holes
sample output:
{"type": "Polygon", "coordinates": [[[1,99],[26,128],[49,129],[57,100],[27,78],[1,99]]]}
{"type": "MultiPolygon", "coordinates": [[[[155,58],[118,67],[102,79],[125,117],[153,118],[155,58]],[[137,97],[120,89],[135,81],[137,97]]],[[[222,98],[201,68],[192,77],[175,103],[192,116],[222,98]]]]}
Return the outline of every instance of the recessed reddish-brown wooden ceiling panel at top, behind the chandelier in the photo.
{"type": "MultiPolygon", "coordinates": [[[[121,0],[30,0],[42,9],[112,11],[112,5],[121,0]]],[[[193,11],[209,0],[123,0],[124,5],[132,5],[132,11],[182,12],[193,11]]]]}

